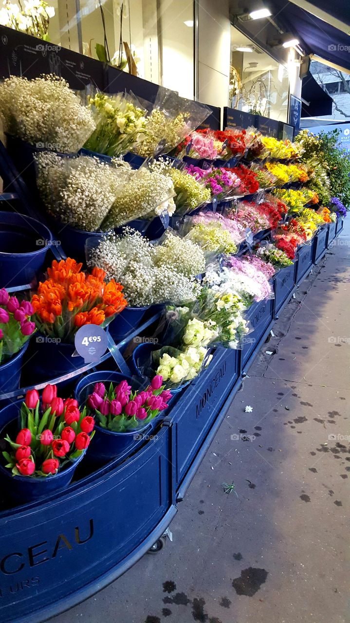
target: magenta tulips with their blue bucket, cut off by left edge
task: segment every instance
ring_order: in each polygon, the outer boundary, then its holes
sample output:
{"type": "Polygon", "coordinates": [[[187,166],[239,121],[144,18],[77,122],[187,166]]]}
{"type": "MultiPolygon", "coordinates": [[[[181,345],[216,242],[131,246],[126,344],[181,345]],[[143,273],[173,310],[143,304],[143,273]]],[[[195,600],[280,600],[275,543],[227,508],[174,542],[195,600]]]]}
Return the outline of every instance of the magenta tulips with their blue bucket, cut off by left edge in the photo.
{"type": "Polygon", "coordinates": [[[21,366],[28,340],[35,331],[29,301],[21,303],[0,290],[0,394],[19,387],[21,366]]]}

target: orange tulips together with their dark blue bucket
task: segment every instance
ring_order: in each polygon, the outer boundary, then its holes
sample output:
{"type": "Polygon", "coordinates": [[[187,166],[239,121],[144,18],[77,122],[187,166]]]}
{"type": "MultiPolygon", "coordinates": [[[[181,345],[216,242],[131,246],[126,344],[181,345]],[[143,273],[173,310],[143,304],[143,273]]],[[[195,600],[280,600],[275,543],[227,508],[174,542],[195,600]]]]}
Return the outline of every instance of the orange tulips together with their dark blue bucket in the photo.
{"type": "Polygon", "coordinates": [[[82,366],[83,359],[73,356],[78,328],[91,324],[105,328],[126,306],[120,283],[105,282],[105,277],[102,269],[82,271],[82,264],[71,258],[54,260],[47,269],[46,280],[31,300],[38,336],[31,345],[26,374],[33,384],[82,366]]]}

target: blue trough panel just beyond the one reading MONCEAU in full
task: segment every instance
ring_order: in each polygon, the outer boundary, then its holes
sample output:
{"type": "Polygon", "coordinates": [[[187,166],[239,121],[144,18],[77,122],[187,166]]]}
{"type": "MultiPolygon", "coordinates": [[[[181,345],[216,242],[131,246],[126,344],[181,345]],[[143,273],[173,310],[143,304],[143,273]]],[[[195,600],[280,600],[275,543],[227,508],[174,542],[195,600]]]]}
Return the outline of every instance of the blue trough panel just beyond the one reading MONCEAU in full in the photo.
{"type": "Polygon", "coordinates": [[[273,303],[273,299],[255,302],[250,305],[245,313],[245,318],[250,321],[253,331],[248,333],[242,340],[242,369],[246,367],[249,359],[252,358],[252,354],[257,354],[265,331],[273,322],[273,303]]]}

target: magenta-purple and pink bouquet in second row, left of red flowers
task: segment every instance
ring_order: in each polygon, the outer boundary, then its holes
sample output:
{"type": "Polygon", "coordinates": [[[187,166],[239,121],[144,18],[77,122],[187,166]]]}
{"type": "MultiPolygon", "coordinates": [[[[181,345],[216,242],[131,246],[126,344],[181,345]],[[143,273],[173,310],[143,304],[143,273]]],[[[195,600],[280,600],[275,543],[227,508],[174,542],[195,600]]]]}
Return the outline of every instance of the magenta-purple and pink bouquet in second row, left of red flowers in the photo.
{"type": "Polygon", "coordinates": [[[198,181],[202,180],[204,186],[210,190],[211,196],[219,200],[224,199],[229,194],[244,194],[244,186],[242,186],[240,178],[227,169],[211,167],[201,169],[194,164],[188,164],[186,171],[198,181]]]}

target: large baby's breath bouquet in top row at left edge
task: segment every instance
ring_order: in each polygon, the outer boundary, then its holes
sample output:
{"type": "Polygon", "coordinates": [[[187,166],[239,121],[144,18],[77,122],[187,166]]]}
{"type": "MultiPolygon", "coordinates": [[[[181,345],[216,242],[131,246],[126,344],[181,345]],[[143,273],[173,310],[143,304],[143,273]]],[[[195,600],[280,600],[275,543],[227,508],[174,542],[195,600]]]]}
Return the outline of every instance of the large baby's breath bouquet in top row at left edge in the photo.
{"type": "Polygon", "coordinates": [[[55,75],[6,78],[0,84],[0,101],[4,130],[34,146],[73,153],[95,130],[91,111],[55,75]]]}

